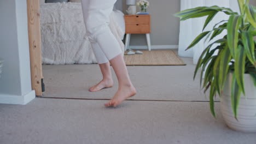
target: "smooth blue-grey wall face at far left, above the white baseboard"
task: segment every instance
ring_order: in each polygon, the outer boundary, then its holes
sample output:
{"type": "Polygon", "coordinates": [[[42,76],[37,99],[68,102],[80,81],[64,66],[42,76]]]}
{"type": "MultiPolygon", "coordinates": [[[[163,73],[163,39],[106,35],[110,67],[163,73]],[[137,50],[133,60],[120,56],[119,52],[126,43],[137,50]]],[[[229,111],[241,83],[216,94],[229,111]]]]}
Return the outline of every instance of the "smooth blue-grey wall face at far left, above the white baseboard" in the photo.
{"type": "Polygon", "coordinates": [[[15,0],[0,1],[0,18],[0,58],[4,59],[4,69],[0,79],[0,92],[20,94],[15,0]],[[11,87],[14,87],[14,89],[11,87]]]}

